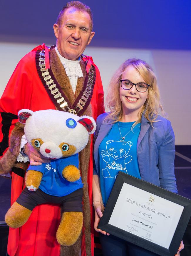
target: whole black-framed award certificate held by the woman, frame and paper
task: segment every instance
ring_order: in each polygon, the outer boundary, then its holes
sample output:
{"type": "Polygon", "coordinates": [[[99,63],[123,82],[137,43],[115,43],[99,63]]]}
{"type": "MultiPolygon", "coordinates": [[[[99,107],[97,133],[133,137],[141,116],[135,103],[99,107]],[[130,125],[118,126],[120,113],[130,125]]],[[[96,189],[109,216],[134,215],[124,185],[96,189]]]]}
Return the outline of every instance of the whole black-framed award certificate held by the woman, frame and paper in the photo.
{"type": "Polygon", "coordinates": [[[98,228],[158,255],[175,255],[191,200],[119,172],[98,228]]]}

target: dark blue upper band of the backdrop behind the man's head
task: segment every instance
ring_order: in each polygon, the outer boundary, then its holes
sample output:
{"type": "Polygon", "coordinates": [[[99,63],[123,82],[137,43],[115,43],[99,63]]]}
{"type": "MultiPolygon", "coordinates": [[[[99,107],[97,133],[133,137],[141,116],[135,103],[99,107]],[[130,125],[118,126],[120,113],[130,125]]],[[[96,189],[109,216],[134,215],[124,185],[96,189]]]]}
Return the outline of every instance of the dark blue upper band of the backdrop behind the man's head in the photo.
{"type": "MultiPolygon", "coordinates": [[[[83,1],[93,11],[91,46],[191,49],[190,0],[83,1]]],[[[1,1],[0,41],[55,43],[53,23],[66,1],[1,1]]]]}

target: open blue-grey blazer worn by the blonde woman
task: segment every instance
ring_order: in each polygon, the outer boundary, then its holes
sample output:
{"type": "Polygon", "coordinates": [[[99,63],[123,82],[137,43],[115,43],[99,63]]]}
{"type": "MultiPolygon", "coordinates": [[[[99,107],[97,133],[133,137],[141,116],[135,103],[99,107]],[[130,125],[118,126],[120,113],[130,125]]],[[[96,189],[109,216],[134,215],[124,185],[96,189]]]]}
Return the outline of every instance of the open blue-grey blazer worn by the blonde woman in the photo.
{"type": "MultiPolygon", "coordinates": [[[[98,148],[112,128],[109,121],[103,122],[108,113],[97,118],[97,128],[94,133],[93,174],[99,175],[98,148]]],[[[174,174],[175,136],[170,121],[158,116],[158,122],[153,123],[141,118],[141,130],[137,142],[137,156],[141,179],[177,193],[174,174]]]]}

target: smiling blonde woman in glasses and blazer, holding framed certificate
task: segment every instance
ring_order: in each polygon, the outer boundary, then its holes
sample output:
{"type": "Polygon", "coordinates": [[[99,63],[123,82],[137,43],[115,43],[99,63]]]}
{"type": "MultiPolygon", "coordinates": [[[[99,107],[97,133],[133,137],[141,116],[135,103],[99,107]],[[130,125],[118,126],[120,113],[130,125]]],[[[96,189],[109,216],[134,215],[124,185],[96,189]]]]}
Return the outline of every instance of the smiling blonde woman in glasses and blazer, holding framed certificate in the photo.
{"type": "MultiPolygon", "coordinates": [[[[110,110],[97,118],[94,134],[94,228],[103,255],[156,255],[98,229],[119,171],[177,193],[174,133],[164,115],[153,69],[128,59],[113,75],[106,98],[110,110]]],[[[179,247],[184,248],[183,243],[179,247]]]]}

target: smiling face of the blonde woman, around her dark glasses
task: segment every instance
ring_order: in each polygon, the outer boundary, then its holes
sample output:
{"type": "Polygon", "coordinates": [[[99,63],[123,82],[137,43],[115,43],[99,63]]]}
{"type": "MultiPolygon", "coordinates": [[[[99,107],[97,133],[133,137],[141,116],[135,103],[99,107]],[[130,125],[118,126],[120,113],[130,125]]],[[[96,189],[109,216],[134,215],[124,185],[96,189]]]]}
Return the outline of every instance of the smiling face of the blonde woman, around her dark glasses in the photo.
{"type": "MultiPolygon", "coordinates": [[[[144,82],[144,79],[133,66],[128,66],[122,75],[122,80],[130,80],[132,83],[144,82]]],[[[142,109],[146,99],[148,98],[148,90],[146,92],[138,92],[135,85],[129,90],[125,90],[120,86],[120,99],[123,105],[123,114],[134,112],[138,115],[142,109]]]]}

